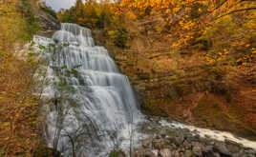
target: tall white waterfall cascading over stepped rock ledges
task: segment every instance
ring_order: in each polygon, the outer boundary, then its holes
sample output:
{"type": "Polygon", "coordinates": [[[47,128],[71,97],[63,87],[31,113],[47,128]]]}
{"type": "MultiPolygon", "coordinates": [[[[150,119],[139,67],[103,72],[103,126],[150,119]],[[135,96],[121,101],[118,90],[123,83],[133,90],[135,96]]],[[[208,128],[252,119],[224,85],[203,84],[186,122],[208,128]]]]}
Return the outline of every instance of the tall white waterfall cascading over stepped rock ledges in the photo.
{"type": "MultiPolygon", "coordinates": [[[[95,46],[91,30],[62,24],[52,39],[35,36],[49,62],[45,134],[64,156],[106,156],[127,148],[143,119],[127,76],[107,49],[95,46]]],[[[39,47],[40,47],[39,46],[39,47]]]]}

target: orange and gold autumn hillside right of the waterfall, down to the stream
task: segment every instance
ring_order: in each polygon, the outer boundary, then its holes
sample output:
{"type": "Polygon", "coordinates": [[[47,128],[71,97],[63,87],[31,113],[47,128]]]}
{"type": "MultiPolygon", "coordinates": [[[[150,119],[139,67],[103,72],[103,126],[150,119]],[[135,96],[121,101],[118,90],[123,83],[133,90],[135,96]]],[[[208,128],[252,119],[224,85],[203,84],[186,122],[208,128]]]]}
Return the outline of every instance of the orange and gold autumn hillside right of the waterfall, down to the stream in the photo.
{"type": "Polygon", "coordinates": [[[251,137],[256,132],[255,10],[251,0],[90,0],[77,1],[58,16],[103,31],[97,40],[147,93],[145,111],[251,137]],[[107,23],[98,27],[102,12],[107,23]],[[214,105],[206,103],[212,100],[214,105]]]}

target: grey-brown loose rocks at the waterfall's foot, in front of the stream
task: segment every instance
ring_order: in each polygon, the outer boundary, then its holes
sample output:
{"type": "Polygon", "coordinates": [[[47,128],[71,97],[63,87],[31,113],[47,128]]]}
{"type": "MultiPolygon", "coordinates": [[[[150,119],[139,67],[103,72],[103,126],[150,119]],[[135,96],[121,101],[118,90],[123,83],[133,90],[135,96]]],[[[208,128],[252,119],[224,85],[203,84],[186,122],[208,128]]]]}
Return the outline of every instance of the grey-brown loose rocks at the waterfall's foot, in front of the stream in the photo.
{"type": "Polygon", "coordinates": [[[230,140],[219,142],[181,128],[162,128],[144,140],[137,157],[255,157],[256,150],[230,140]]]}

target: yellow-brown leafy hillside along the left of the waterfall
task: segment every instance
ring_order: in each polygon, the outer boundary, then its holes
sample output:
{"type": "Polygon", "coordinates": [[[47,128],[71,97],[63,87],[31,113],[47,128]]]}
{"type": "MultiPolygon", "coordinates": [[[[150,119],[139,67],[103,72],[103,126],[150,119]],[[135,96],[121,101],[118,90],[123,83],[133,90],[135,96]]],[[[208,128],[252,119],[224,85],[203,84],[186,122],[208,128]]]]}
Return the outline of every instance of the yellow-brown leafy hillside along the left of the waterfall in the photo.
{"type": "Polygon", "coordinates": [[[52,15],[45,10],[51,11],[34,0],[0,2],[1,157],[30,157],[44,144],[40,97],[35,94],[40,84],[32,79],[41,63],[28,43],[35,33],[57,29],[51,25],[56,19],[46,25],[43,17],[52,15]]]}

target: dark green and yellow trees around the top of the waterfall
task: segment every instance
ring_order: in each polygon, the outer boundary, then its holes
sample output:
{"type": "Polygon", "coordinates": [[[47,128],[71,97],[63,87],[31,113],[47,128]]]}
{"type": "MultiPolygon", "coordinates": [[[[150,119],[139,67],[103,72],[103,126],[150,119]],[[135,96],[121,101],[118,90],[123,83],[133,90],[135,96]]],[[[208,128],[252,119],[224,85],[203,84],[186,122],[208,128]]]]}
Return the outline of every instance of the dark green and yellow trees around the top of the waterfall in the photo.
{"type": "Polygon", "coordinates": [[[97,3],[89,0],[82,3],[78,0],[70,10],[63,10],[58,13],[59,20],[63,23],[76,23],[89,29],[103,29],[104,37],[109,45],[125,48],[128,40],[128,33],[122,21],[115,16],[111,10],[113,4],[108,1],[97,3]]]}

